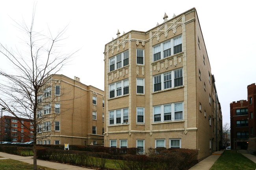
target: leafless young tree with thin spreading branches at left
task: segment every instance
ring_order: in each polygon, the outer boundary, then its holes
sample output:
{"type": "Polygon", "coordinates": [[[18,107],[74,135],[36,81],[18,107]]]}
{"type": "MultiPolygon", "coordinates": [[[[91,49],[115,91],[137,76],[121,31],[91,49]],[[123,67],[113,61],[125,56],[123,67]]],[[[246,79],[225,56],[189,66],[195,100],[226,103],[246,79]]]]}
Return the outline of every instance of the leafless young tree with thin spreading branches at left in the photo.
{"type": "Polygon", "coordinates": [[[8,72],[0,70],[0,76],[4,80],[0,84],[0,106],[6,108],[7,112],[19,120],[21,117],[31,120],[32,126],[25,126],[24,124],[24,128],[33,132],[33,169],[36,170],[37,131],[39,132],[40,128],[47,128],[51,125],[47,124],[47,126],[39,127],[39,129],[37,127],[44,120],[52,119],[53,115],[47,114],[40,117],[43,107],[48,106],[50,110],[54,101],[53,98],[45,100],[42,98],[46,98],[43,95],[50,93],[49,89],[52,88],[50,75],[57,73],[67,64],[74,53],[61,54],[58,51],[59,41],[63,40],[62,36],[67,27],[60,31],[56,37],[51,34],[45,36],[41,32],[33,31],[34,19],[35,11],[33,10],[32,22],[29,27],[25,22],[16,22],[17,27],[27,37],[24,40],[26,51],[25,49],[22,52],[18,49],[8,49],[0,43],[0,54],[2,53],[7,58],[12,67],[8,72]],[[41,119],[37,119],[37,116],[41,119]]]}

